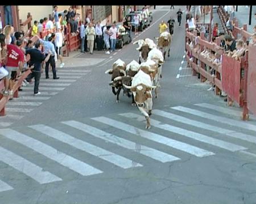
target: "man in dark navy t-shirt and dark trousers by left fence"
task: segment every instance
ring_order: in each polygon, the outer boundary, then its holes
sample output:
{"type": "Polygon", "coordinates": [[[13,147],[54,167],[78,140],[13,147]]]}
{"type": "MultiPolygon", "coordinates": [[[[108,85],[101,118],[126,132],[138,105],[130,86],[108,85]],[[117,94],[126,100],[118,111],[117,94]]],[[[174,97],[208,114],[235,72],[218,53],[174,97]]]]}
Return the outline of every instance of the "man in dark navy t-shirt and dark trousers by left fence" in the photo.
{"type": "Polygon", "coordinates": [[[42,69],[42,62],[47,62],[51,54],[48,56],[44,56],[42,53],[42,43],[38,40],[35,43],[35,48],[27,49],[26,54],[30,55],[30,67],[34,65],[34,69],[32,69],[32,73],[28,75],[27,81],[35,78],[35,86],[34,86],[34,95],[40,95],[41,93],[38,91],[40,77],[41,77],[41,69],[42,69]]]}

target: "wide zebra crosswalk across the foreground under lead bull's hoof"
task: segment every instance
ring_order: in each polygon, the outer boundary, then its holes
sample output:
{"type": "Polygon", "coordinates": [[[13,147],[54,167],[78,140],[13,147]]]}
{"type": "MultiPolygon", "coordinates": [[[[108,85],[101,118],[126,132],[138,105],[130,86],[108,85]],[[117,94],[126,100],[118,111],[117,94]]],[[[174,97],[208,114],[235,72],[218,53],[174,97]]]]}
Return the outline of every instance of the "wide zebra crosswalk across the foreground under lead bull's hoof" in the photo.
{"type": "MultiPolygon", "coordinates": [[[[212,104],[203,106],[208,108],[212,104]]],[[[207,159],[220,152],[256,156],[251,152],[256,149],[255,121],[243,122],[228,112],[219,116],[217,111],[205,111],[198,104],[167,107],[153,109],[152,129],[145,130],[144,122],[144,117],[134,110],[50,125],[0,129],[0,142],[11,141],[19,146],[0,143],[0,193],[16,188],[3,174],[2,163],[36,181],[36,185],[44,185],[67,179],[56,167],[79,176],[98,176],[113,169],[147,168],[148,161],[156,165],[179,162],[187,156],[207,159]],[[207,120],[202,122],[200,117],[207,120]],[[67,151],[67,147],[72,151],[67,151]],[[31,155],[40,155],[44,162],[32,159],[31,155]],[[112,168],[106,168],[106,163],[112,168]]],[[[16,185],[22,185],[22,180],[17,182],[16,185]]]]}

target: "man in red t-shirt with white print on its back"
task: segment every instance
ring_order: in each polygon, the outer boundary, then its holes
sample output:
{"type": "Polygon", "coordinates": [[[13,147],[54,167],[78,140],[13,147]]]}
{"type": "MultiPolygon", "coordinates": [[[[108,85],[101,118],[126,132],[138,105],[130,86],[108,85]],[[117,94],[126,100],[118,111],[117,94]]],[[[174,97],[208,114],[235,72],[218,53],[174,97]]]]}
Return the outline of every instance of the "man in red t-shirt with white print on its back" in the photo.
{"type": "Polygon", "coordinates": [[[17,40],[16,45],[7,45],[7,63],[6,70],[9,74],[5,78],[5,95],[10,95],[10,99],[13,98],[13,86],[14,79],[16,78],[16,74],[20,73],[22,70],[23,62],[24,62],[24,54],[21,50],[22,41],[17,40]],[[10,80],[11,79],[11,80],[10,80]],[[9,87],[10,84],[10,87],[9,87]],[[8,90],[10,90],[8,92],[8,90]]]}

